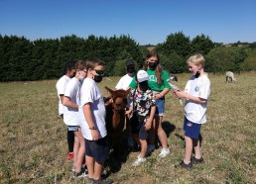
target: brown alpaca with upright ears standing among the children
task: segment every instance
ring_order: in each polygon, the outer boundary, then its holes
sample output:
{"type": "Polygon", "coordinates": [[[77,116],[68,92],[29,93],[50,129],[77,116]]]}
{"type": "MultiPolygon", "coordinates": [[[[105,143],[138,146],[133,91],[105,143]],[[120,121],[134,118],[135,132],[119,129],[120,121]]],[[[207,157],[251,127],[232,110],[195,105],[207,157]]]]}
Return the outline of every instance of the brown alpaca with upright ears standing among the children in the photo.
{"type": "Polygon", "coordinates": [[[124,148],[122,133],[125,124],[127,95],[130,90],[112,90],[107,86],[105,86],[105,89],[111,94],[105,102],[107,135],[114,153],[120,154],[124,148]]]}

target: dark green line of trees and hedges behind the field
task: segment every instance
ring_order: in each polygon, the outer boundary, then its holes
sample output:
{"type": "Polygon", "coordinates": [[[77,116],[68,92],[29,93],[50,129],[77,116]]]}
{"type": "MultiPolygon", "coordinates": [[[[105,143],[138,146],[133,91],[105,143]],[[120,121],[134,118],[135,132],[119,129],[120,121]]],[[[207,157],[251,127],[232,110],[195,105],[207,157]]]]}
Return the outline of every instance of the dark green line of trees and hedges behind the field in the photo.
{"type": "Polygon", "coordinates": [[[199,35],[192,40],[183,32],[171,34],[163,44],[139,46],[130,36],[78,38],[30,41],[24,37],[0,35],[0,81],[33,81],[60,78],[64,63],[73,59],[98,57],[105,61],[108,76],[125,74],[127,58],[142,67],[148,48],[161,56],[161,63],[170,73],[188,72],[187,62],[193,53],[206,59],[205,71],[220,73],[256,70],[256,43],[236,43],[230,46],[213,43],[199,35]]]}

